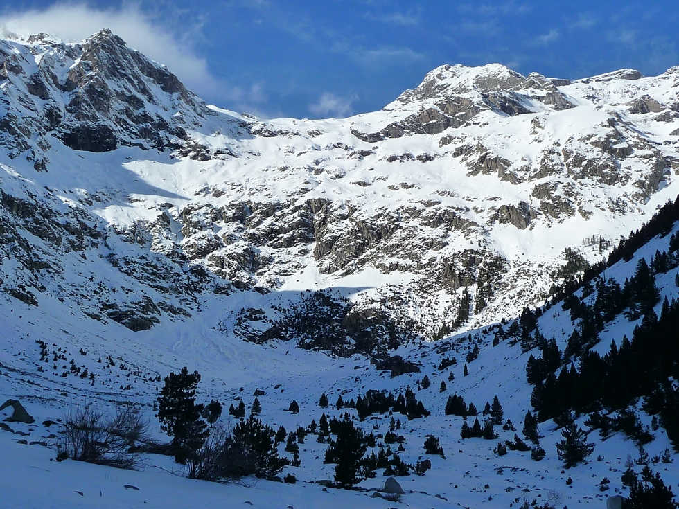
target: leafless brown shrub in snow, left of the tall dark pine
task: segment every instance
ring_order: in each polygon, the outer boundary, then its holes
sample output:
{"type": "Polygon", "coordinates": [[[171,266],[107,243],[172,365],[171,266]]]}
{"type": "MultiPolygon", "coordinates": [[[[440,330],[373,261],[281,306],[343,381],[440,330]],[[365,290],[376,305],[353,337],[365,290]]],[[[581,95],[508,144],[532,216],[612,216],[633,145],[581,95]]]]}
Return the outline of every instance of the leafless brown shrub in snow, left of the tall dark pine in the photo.
{"type": "Polygon", "coordinates": [[[148,437],[148,420],[133,407],[116,407],[113,416],[96,404],[72,406],[64,415],[60,458],[134,469],[141,456],[134,445],[148,437]]]}

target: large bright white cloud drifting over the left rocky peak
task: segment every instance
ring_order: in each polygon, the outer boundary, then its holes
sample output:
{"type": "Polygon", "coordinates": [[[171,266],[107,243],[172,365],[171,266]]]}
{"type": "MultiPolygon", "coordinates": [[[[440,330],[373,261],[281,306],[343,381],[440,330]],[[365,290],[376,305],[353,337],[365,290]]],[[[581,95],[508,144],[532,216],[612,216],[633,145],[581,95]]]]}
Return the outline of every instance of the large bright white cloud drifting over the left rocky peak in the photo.
{"type": "Polygon", "coordinates": [[[172,33],[161,21],[136,6],[97,9],[85,4],[56,3],[44,10],[5,10],[0,27],[19,35],[48,33],[65,42],[79,42],[102,28],[110,28],[127,45],[168,66],[189,89],[199,95],[221,95],[222,87],[209,73],[206,60],[191,47],[188,34],[172,33]]]}

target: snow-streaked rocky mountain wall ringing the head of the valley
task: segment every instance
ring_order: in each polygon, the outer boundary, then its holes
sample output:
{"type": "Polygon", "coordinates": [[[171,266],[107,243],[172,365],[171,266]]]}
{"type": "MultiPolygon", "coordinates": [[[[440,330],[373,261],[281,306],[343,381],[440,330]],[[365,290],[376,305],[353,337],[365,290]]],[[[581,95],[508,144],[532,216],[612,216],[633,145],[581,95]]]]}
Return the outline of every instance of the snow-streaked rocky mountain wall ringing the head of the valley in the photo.
{"type": "Polygon", "coordinates": [[[500,321],[676,197],[678,87],[446,65],[382,111],[261,120],[108,30],[2,39],[1,287],[132,330],[221,299],[256,341],[308,290],[371,348],[500,321]]]}

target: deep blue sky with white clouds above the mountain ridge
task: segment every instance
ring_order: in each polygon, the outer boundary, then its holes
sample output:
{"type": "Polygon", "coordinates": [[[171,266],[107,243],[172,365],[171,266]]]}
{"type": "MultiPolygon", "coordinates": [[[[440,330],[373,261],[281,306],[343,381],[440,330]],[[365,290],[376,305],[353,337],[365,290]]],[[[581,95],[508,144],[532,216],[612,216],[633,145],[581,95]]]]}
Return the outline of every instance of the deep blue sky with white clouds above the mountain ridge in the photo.
{"type": "Polygon", "coordinates": [[[261,116],[380,109],[441,64],[582,78],[679,65],[670,1],[15,1],[0,25],[80,40],[108,26],[206,101],[261,116]]]}

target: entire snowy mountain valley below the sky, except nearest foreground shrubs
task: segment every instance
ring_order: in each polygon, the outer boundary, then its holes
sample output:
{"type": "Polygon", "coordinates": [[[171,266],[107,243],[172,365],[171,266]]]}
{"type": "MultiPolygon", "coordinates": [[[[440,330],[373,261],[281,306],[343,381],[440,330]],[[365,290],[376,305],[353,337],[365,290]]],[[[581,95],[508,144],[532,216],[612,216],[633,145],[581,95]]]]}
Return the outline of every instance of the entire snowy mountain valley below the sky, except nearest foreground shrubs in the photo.
{"type": "Polygon", "coordinates": [[[381,111],[263,120],[109,30],[3,35],[0,395],[35,418],[0,424],[3,504],[673,507],[678,94],[679,67],[444,65],[381,111]],[[157,454],[183,366],[233,407],[212,437],[291,432],[267,479],[157,454]],[[53,461],[87,408],[148,420],[137,470],[53,461]]]}

